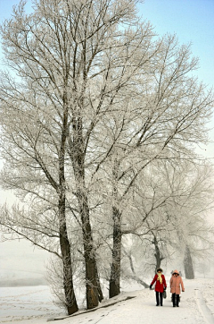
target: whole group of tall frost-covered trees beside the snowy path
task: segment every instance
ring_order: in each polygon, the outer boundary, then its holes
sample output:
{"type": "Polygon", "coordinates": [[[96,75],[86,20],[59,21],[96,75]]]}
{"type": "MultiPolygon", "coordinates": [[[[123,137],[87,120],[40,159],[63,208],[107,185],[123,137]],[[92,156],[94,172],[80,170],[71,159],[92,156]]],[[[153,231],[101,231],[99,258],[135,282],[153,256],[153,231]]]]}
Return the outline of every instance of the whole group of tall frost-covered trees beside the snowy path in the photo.
{"type": "Polygon", "coordinates": [[[152,237],[157,265],[204,237],[210,166],[194,149],[212,93],[191,75],[190,47],[154,35],[136,4],[38,0],[27,14],[21,1],[1,26],[1,183],[20,199],[2,207],[2,230],[53,253],[69,314],[80,278],[88,309],[101,277],[119,294],[128,237],[152,237]]]}

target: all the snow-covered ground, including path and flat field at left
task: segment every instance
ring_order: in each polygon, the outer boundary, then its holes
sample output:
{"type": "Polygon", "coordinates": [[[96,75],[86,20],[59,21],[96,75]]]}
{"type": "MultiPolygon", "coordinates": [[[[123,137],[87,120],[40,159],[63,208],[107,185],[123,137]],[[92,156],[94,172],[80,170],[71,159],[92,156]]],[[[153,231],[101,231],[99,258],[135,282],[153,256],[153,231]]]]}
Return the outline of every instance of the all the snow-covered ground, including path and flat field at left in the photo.
{"type": "Polygon", "coordinates": [[[172,307],[169,289],[163,307],[156,307],[153,290],[128,291],[129,286],[126,292],[103,301],[97,310],[79,311],[70,317],[53,305],[47,286],[4,287],[0,288],[0,322],[45,324],[57,319],[57,324],[213,324],[214,279],[184,279],[184,284],[179,308],[172,307]],[[125,300],[131,296],[135,298],[125,300]]]}

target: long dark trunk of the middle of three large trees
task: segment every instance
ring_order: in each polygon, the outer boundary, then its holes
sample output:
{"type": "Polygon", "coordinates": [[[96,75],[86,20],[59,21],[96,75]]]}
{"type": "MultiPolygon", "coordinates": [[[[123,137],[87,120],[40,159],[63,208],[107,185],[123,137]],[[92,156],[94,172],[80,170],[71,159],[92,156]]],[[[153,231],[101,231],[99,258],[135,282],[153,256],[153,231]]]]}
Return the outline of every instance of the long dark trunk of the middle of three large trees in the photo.
{"type": "Polygon", "coordinates": [[[86,307],[95,308],[99,303],[98,274],[95,259],[95,247],[93,243],[92,228],[90,224],[89,208],[87,202],[86,183],[85,183],[85,149],[82,134],[81,113],[75,112],[76,119],[73,119],[73,141],[70,143],[70,153],[75,175],[78,210],[81,218],[84,257],[86,267],[86,307]]]}

